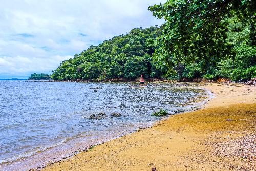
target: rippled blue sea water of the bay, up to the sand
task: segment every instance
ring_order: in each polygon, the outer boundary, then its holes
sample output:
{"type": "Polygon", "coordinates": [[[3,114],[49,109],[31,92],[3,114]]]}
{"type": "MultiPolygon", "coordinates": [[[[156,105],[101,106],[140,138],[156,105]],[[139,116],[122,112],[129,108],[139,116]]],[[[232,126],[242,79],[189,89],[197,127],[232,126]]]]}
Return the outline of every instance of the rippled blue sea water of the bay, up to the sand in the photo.
{"type": "Polygon", "coordinates": [[[151,126],[160,119],[151,113],[159,109],[171,114],[190,111],[209,97],[202,89],[180,85],[133,85],[1,80],[0,170],[14,169],[13,165],[17,170],[26,170],[29,168],[22,165],[28,162],[39,168],[44,163],[42,158],[51,158],[53,150],[65,151],[51,159],[59,160],[68,152],[74,154],[88,145],[151,126]],[[119,112],[122,116],[89,119],[99,112],[108,116],[119,112]],[[36,163],[39,160],[41,163],[36,163]]]}

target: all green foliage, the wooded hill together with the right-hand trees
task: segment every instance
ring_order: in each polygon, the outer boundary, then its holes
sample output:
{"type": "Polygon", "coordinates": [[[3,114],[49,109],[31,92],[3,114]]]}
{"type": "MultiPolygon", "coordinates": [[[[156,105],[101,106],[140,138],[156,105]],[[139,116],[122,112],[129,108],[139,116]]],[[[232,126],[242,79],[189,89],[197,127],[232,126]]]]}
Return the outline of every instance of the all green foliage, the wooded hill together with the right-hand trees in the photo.
{"type": "Polygon", "coordinates": [[[54,80],[208,80],[256,77],[255,1],[168,0],[148,7],[166,23],[115,36],[53,71],[54,80]]]}

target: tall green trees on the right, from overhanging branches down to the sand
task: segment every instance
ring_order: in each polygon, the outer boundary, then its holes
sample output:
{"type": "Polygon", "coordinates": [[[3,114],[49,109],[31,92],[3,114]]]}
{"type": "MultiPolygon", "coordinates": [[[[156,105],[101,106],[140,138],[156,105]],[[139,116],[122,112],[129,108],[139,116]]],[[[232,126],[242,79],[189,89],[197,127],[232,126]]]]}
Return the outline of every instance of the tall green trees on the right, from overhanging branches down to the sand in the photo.
{"type": "Polygon", "coordinates": [[[168,0],[148,9],[166,20],[155,58],[176,78],[256,76],[255,1],[168,0]]]}

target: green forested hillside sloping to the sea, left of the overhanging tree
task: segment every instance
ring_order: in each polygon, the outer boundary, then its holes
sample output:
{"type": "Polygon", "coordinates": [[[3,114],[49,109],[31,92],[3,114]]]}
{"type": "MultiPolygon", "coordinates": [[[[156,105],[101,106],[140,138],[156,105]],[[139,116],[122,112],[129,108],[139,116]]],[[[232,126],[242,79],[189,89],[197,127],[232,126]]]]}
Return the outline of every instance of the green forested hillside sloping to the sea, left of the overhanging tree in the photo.
{"type": "Polygon", "coordinates": [[[90,46],[73,59],[63,61],[53,71],[54,80],[134,80],[143,74],[146,78],[161,78],[167,67],[156,69],[152,56],[158,48],[156,38],[159,26],[133,29],[130,33],[90,46]]]}

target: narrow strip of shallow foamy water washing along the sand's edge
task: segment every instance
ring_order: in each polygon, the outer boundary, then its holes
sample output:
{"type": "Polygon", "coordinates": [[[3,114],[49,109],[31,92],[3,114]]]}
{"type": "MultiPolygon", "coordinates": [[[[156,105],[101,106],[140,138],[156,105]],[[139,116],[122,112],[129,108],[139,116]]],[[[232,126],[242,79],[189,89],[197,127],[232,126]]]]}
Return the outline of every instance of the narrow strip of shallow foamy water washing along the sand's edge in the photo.
{"type": "MultiPolygon", "coordinates": [[[[156,84],[159,84],[159,82],[155,82],[156,84]]],[[[163,82],[165,83],[165,82],[163,82]]],[[[199,109],[200,106],[204,105],[210,98],[212,98],[212,94],[209,93],[209,91],[207,91],[206,89],[202,89],[202,88],[199,88],[197,84],[181,84],[181,83],[178,83],[179,84],[179,88],[188,88],[188,89],[201,89],[201,90],[204,90],[205,91],[205,94],[207,94],[208,98],[206,100],[199,100],[199,101],[195,101],[195,104],[191,104],[190,105],[190,111],[194,111],[196,109],[199,109]]],[[[168,84],[169,85],[169,84],[168,84]]],[[[177,84],[170,84],[172,87],[173,86],[177,86],[177,84]]],[[[203,97],[203,96],[202,96],[203,97]]],[[[204,97],[206,98],[206,97],[204,97]]],[[[189,108],[188,108],[189,109],[189,108]]],[[[187,111],[188,112],[188,111],[187,111]]],[[[176,114],[176,113],[175,113],[176,114]]],[[[167,119],[167,117],[165,118],[161,118],[161,120],[165,120],[167,119]]],[[[159,122],[161,120],[158,120],[156,122],[159,122]]],[[[146,129],[146,128],[150,128],[152,127],[156,122],[154,123],[148,123],[147,126],[145,127],[144,125],[140,125],[140,128],[138,127],[139,130],[141,129],[146,129]]],[[[76,142],[75,141],[75,138],[69,138],[69,140],[63,140],[65,141],[65,144],[62,144],[61,145],[53,145],[53,146],[49,146],[49,147],[46,147],[44,150],[42,149],[38,149],[38,151],[31,151],[29,152],[28,154],[26,153],[25,154],[25,157],[22,157],[22,155],[19,155],[17,157],[20,157],[18,158],[17,160],[15,158],[11,158],[11,161],[7,161],[6,163],[3,163],[2,166],[0,165],[0,170],[2,169],[15,169],[15,170],[18,170],[18,168],[23,168],[22,166],[23,165],[28,165],[28,167],[26,166],[24,169],[31,169],[31,168],[34,168],[35,170],[38,170],[38,169],[41,169],[43,168],[45,165],[51,165],[53,163],[56,163],[56,162],[59,162],[61,160],[64,160],[64,159],[67,159],[67,158],[70,158],[78,153],[81,153],[83,151],[87,151],[88,149],[90,149],[92,146],[95,146],[95,145],[100,145],[100,144],[103,144],[105,142],[108,142],[108,141],[111,141],[111,140],[114,140],[114,139],[118,139],[124,135],[127,135],[127,134],[132,134],[132,133],[135,133],[137,132],[137,130],[132,130],[131,132],[125,132],[121,135],[117,135],[117,136],[114,136],[114,137],[104,137],[102,139],[100,139],[98,142],[97,141],[93,141],[93,142],[83,142],[83,141],[79,141],[76,142]],[[79,149],[74,149],[73,150],[73,146],[77,146],[76,144],[84,144],[81,146],[81,148],[79,149]],[[68,146],[70,146],[71,150],[67,150],[68,149],[68,146]],[[65,150],[65,151],[64,151],[65,150]],[[30,155],[30,153],[33,153],[30,155]],[[56,157],[52,156],[52,155],[49,155],[50,153],[57,153],[58,155],[56,155],[56,157]],[[29,156],[27,156],[29,155],[29,156]],[[59,156],[59,157],[57,157],[59,156]],[[49,158],[49,159],[46,159],[46,158],[49,158]],[[42,158],[45,158],[45,162],[41,162],[42,158]],[[38,159],[38,161],[37,161],[38,159]],[[27,163],[27,164],[26,164],[27,163]],[[9,165],[9,166],[8,166],[9,165]],[[2,167],[2,169],[1,169],[2,167]]],[[[61,141],[62,142],[62,141],[61,141]]],[[[76,148],[76,147],[75,147],[76,148]]]]}

